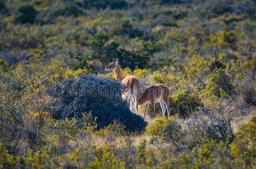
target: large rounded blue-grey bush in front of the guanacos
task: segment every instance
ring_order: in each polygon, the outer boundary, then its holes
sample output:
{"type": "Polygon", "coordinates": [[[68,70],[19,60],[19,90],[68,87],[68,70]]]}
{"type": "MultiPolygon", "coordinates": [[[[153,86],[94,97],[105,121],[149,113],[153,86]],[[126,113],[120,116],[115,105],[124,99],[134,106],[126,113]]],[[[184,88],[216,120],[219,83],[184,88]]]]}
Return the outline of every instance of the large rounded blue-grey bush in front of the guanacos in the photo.
{"type": "Polygon", "coordinates": [[[81,118],[84,112],[97,117],[98,128],[120,121],[128,131],[143,131],[146,122],[133,114],[122,99],[125,86],[114,79],[80,76],[67,79],[50,88],[49,112],[54,119],[81,118]]]}

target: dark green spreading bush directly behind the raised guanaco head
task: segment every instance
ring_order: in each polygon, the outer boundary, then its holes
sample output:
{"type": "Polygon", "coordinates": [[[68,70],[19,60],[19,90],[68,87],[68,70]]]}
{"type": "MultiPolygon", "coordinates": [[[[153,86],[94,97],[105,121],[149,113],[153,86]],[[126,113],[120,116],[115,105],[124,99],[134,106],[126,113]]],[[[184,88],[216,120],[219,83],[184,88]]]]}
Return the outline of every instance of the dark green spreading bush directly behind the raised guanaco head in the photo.
{"type": "Polygon", "coordinates": [[[125,50],[120,48],[118,42],[109,42],[109,36],[105,33],[93,35],[87,44],[90,49],[89,53],[76,56],[76,62],[70,63],[72,69],[88,68],[95,72],[103,72],[104,69],[99,69],[99,67],[106,66],[116,58],[119,58],[120,65],[124,68],[129,67],[132,70],[136,67],[150,68],[155,65],[151,59],[155,53],[159,52],[161,46],[154,42],[144,42],[137,50],[125,50]]]}

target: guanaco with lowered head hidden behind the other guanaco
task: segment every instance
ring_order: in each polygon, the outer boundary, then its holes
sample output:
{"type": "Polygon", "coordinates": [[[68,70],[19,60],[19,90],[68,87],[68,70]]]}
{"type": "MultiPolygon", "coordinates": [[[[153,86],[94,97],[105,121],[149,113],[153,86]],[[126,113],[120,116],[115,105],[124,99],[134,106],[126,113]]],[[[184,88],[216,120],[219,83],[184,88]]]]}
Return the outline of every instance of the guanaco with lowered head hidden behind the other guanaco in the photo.
{"type": "Polygon", "coordinates": [[[170,118],[170,107],[169,107],[169,96],[170,91],[169,88],[164,84],[155,84],[149,88],[147,88],[141,95],[141,98],[138,100],[138,105],[146,104],[145,113],[148,112],[149,104],[152,105],[152,113],[154,117],[155,114],[155,103],[160,102],[162,108],[162,116],[165,116],[165,111],[167,108],[168,118],[170,118]]]}

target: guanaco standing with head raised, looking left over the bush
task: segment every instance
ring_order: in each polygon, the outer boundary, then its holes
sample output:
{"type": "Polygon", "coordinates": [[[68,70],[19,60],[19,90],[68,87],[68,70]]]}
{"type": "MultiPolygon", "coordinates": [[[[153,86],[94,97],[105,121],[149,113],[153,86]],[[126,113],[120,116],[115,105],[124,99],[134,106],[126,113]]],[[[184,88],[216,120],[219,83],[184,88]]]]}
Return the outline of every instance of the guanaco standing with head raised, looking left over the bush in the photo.
{"type": "Polygon", "coordinates": [[[136,114],[138,114],[138,98],[140,94],[138,79],[130,74],[126,75],[125,78],[122,77],[120,66],[118,64],[118,58],[115,62],[111,62],[109,65],[107,65],[105,71],[114,71],[115,79],[121,81],[125,86],[128,87],[128,91],[123,93],[123,98],[127,100],[131,111],[133,104],[135,104],[135,111],[136,114]]]}

